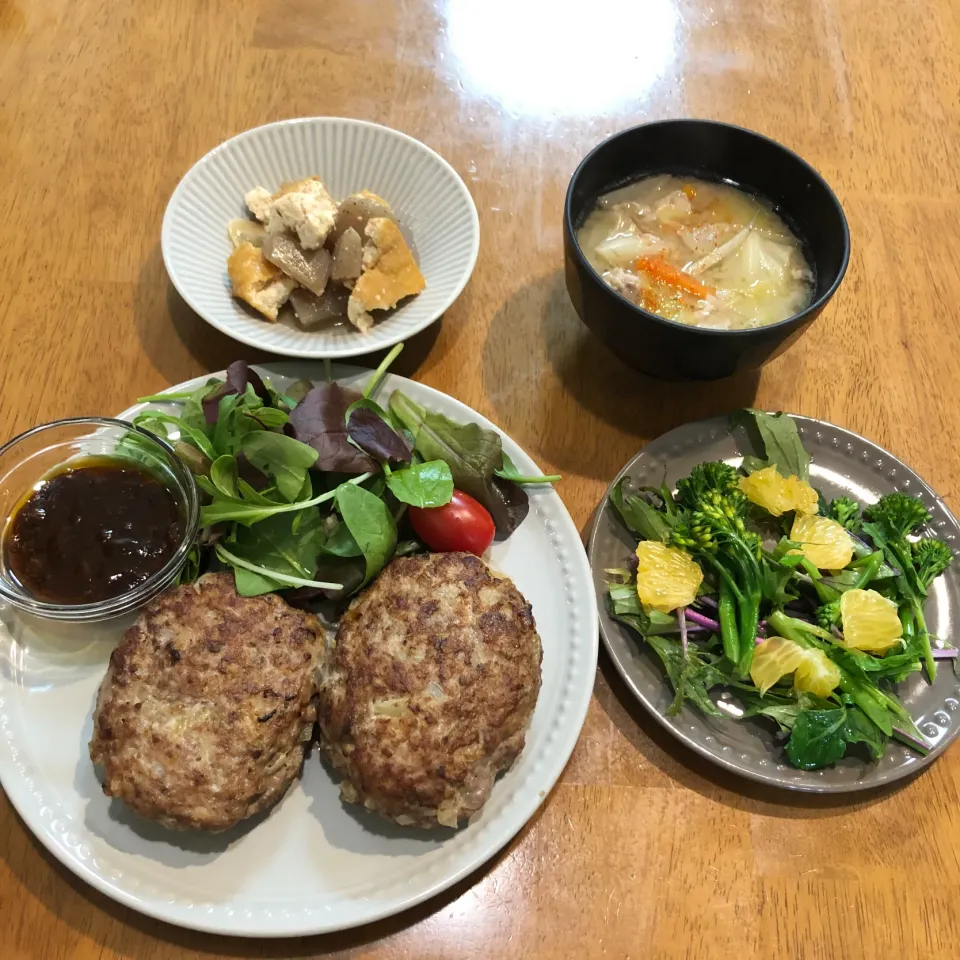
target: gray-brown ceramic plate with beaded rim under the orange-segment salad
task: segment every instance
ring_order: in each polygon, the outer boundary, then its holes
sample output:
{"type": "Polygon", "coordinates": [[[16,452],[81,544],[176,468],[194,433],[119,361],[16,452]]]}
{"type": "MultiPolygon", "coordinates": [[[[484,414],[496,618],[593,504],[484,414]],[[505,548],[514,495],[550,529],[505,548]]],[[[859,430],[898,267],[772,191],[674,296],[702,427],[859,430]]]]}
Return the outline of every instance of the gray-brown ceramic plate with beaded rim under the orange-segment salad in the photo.
{"type": "MultiPolygon", "coordinates": [[[[933,514],[929,532],[947,540],[960,556],[960,524],[943,501],[909,467],[863,437],[840,427],[794,417],[811,456],[811,482],[828,499],[847,494],[861,502],[873,502],[884,493],[904,490],[920,497],[933,514]]],[[[640,485],[659,485],[664,477],[673,484],[705,460],[739,462],[746,453],[756,453],[742,428],[731,429],[726,417],[701,420],[671,430],[638,453],[617,475],[629,476],[640,485]]],[[[666,709],[673,699],[660,663],[643,641],[607,612],[604,569],[623,565],[634,541],[604,497],[590,535],[590,563],[600,609],[600,632],[617,669],[637,699],[674,736],[720,766],[752,780],[815,793],[845,793],[867,790],[914,774],[931,763],[960,734],[960,679],[951,661],[940,661],[937,682],[930,686],[914,674],[898,688],[903,703],[917,726],[933,745],[929,756],[891,743],[876,763],[845,757],[825,770],[796,770],[783,756],[772,722],[737,720],[736,703],[719,696],[721,709],[731,719],[706,717],[684,706],[670,717],[666,709]]],[[[926,607],[931,633],[954,646],[953,625],[960,618],[960,564],[954,564],[934,585],[926,607]]]]}

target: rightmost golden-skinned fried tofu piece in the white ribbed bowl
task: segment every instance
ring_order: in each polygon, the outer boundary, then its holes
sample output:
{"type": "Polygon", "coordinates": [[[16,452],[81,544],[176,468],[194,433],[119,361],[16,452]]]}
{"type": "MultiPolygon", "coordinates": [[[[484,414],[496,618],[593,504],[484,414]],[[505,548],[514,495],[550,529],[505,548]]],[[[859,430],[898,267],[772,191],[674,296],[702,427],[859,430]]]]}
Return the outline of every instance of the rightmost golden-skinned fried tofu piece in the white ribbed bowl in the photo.
{"type": "Polygon", "coordinates": [[[363,273],[347,301],[347,318],[366,333],[373,326],[371,310],[390,310],[404,297],[420,293],[427,284],[392,220],[373,217],[364,233],[363,273]]]}

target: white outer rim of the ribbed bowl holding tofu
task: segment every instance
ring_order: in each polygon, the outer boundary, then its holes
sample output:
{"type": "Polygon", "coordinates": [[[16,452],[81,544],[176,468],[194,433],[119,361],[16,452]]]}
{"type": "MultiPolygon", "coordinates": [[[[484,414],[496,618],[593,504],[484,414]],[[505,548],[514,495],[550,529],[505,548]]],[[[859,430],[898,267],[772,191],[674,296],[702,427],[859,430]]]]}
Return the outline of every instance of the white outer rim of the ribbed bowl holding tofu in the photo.
{"type": "MultiPolygon", "coordinates": [[[[160,228],[160,252],[163,256],[163,266],[167,272],[167,276],[170,279],[170,282],[173,284],[174,289],[187,304],[188,307],[198,316],[204,323],[210,324],[210,326],[219,330],[221,333],[230,337],[231,340],[236,340],[239,343],[244,343],[250,347],[257,347],[260,350],[266,350],[269,353],[272,353],[277,356],[287,356],[287,357],[301,357],[308,360],[322,360],[322,359],[343,359],[346,357],[359,357],[364,356],[365,354],[375,353],[380,350],[389,349],[392,346],[400,343],[403,340],[409,340],[412,336],[416,336],[418,333],[422,333],[427,327],[436,323],[440,317],[443,316],[450,309],[453,303],[457,300],[461,293],[463,293],[464,288],[467,283],[470,281],[470,277],[473,275],[474,267],[477,264],[477,258],[480,255],[480,216],[477,213],[477,205],[473,199],[473,195],[470,193],[470,190],[467,188],[467,185],[463,182],[463,178],[459,173],[453,168],[451,163],[444,159],[433,147],[427,146],[422,140],[417,140],[416,137],[411,137],[410,134],[404,133],[402,130],[396,130],[393,127],[387,127],[382,123],[374,123],[372,120],[359,120],[356,117],[336,117],[336,116],[321,116],[321,117],[290,117],[286,120],[273,120],[270,123],[263,123],[257,127],[250,127],[247,130],[243,130],[240,133],[234,134],[232,137],[224,140],[222,143],[217,144],[213,149],[208,150],[199,160],[197,160],[189,170],[180,178],[176,187],[174,187],[173,193],[170,194],[170,199],[167,201],[166,209],[163,212],[163,223],[160,228]],[[264,130],[268,130],[274,127],[286,127],[286,126],[299,126],[307,124],[327,124],[327,123],[344,123],[349,126],[356,127],[366,127],[366,128],[375,128],[381,132],[387,133],[390,136],[397,137],[400,140],[407,141],[411,146],[416,149],[422,150],[426,153],[432,154],[433,157],[439,161],[440,167],[451,177],[452,182],[457,187],[459,192],[467,201],[467,209],[470,213],[470,234],[471,234],[471,243],[470,243],[470,256],[469,262],[466,269],[463,271],[463,276],[460,282],[454,287],[447,299],[443,302],[443,305],[440,309],[437,310],[436,316],[433,319],[425,321],[417,330],[409,331],[407,330],[404,333],[398,334],[386,334],[377,338],[377,342],[372,344],[369,348],[364,349],[363,346],[343,346],[337,347],[336,349],[324,348],[318,346],[315,349],[301,348],[301,347],[285,347],[282,352],[272,350],[270,347],[265,346],[263,341],[254,334],[244,333],[242,330],[228,329],[224,324],[220,323],[219,320],[213,319],[205,315],[196,305],[196,303],[191,299],[190,293],[184,288],[177,278],[177,273],[175,269],[172,269],[170,266],[168,258],[168,249],[172,244],[170,238],[171,230],[171,221],[172,221],[172,212],[174,208],[179,204],[179,201],[186,193],[188,188],[188,182],[191,179],[195,171],[201,169],[206,164],[208,164],[213,157],[228,151],[233,145],[240,143],[247,139],[253,139],[257,135],[261,134],[264,130]]],[[[389,319],[385,321],[389,323],[389,319]]]]}

